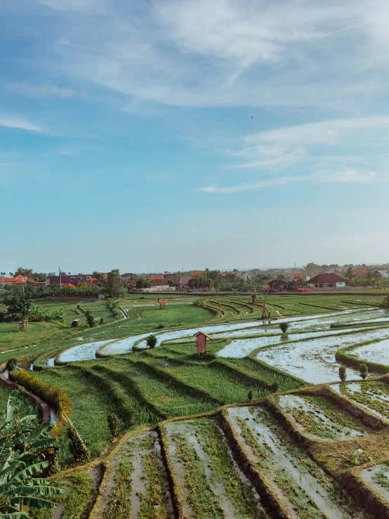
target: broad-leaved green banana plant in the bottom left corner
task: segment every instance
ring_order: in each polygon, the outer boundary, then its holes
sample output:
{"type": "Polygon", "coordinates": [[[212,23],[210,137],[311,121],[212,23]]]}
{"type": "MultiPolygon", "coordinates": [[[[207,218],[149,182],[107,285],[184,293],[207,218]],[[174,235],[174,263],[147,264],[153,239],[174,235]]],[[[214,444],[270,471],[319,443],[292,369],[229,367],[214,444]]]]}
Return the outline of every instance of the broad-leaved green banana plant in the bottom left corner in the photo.
{"type": "Polygon", "coordinates": [[[0,422],[0,519],[27,519],[26,506],[54,508],[56,504],[44,498],[63,493],[39,477],[49,466],[42,460],[56,448],[49,435],[53,424],[40,426],[35,415],[19,418],[19,407],[18,398],[10,395],[0,422]]]}

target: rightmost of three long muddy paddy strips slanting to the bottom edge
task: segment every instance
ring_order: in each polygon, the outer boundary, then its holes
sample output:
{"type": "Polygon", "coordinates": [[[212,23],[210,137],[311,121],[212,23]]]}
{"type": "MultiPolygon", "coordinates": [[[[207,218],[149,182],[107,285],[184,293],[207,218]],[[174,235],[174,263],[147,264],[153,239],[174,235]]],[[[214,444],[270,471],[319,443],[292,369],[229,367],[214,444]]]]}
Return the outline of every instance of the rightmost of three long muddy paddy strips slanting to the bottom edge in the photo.
{"type": "MultiPolygon", "coordinates": [[[[291,517],[355,517],[355,504],[345,499],[337,482],[287,437],[265,409],[235,407],[228,414],[239,440],[291,517]]],[[[361,511],[360,517],[367,516],[361,511]]]]}

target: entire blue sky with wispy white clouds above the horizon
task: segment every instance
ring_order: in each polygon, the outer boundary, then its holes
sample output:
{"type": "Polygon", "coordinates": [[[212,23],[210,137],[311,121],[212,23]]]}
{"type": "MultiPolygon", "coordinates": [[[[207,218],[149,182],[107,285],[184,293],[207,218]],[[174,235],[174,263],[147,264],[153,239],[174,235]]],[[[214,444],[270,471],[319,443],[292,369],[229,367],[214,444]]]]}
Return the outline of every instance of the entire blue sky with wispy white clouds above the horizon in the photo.
{"type": "Polygon", "coordinates": [[[389,261],[387,1],[0,10],[0,270],[389,261]]]}

